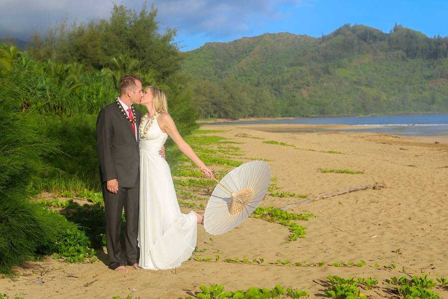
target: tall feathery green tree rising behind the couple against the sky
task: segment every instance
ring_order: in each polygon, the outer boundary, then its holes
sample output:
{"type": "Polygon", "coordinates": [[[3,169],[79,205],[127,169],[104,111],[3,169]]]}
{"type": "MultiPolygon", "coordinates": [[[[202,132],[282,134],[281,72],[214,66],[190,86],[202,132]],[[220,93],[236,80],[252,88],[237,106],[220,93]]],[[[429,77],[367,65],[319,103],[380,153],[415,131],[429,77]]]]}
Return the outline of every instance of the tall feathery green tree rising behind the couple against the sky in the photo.
{"type": "Polygon", "coordinates": [[[112,57],[125,56],[137,61],[136,69],[143,73],[154,69],[155,80],[163,82],[179,72],[181,56],[174,43],[176,30],[159,33],[156,16],[154,6],[148,11],[144,4],[137,13],[115,4],[109,19],[70,27],[61,22],[45,38],[33,35],[28,51],[42,61],[78,62],[98,70],[110,67],[112,57]]]}

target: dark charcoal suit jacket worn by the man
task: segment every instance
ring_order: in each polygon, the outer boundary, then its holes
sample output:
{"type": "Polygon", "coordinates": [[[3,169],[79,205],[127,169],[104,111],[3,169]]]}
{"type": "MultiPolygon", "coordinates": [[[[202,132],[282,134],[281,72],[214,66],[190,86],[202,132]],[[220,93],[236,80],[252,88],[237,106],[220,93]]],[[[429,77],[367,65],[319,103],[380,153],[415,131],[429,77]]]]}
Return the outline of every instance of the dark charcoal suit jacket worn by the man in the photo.
{"type": "MultiPolygon", "coordinates": [[[[135,110],[138,136],[141,112],[135,110]]],[[[118,179],[118,186],[132,187],[138,179],[140,153],[132,124],[123,116],[116,103],[103,108],[97,118],[97,152],[102,183],[118,179]]]]}

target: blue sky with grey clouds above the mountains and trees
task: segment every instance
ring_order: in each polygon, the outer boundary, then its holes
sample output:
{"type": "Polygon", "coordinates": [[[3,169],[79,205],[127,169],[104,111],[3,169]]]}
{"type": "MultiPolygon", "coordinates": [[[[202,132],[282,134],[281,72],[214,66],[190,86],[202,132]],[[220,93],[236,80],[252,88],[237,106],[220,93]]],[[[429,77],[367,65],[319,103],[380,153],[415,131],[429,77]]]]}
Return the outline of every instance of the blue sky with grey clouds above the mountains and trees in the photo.
{"type": "MultiPolygon", "coordinates": [[[[122,0],[139,10],[144,0],[122,0]]],[[[389,32],[395,23],[428,36],[448,36],[445,0],[154,0],[163,31],[177,28],[182,51],[206,42],[231,41],[266,32],[321,36],[345,23],[364,24],[389,32]]],[[[152,2],[148,1],[148,6],[152,2]]],[[[68,23],[108,18],[111,0],[0,0],[0,37],[27,40],[45,34],[63,18],[68,23]]]]}

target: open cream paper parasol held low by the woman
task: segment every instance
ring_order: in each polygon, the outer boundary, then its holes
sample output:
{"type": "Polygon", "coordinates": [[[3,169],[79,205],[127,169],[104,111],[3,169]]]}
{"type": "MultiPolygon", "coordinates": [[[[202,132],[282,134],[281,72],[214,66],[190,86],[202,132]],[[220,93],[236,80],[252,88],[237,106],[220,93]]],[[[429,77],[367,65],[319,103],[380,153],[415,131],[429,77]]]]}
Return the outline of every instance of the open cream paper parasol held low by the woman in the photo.
{"type": "Polygon", "coordinates": [[[244,163],[227,173],[207,204],[206,231],[221,235],[243,222],[264,198],[270,181],[271,169],[263,161],[244,163]]]}

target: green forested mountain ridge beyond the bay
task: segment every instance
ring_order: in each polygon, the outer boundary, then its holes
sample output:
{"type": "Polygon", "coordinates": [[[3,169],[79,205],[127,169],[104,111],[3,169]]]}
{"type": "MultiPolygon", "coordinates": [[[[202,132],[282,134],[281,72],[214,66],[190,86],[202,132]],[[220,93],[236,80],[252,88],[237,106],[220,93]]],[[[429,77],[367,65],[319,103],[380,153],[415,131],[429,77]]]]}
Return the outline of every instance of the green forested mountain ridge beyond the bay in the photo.
{"type": "Polygon", "coordinates": [[[207,43],[182,68],[203,118],[447,112],[447,57],[448,37],[347,24],[207,43]]]}

